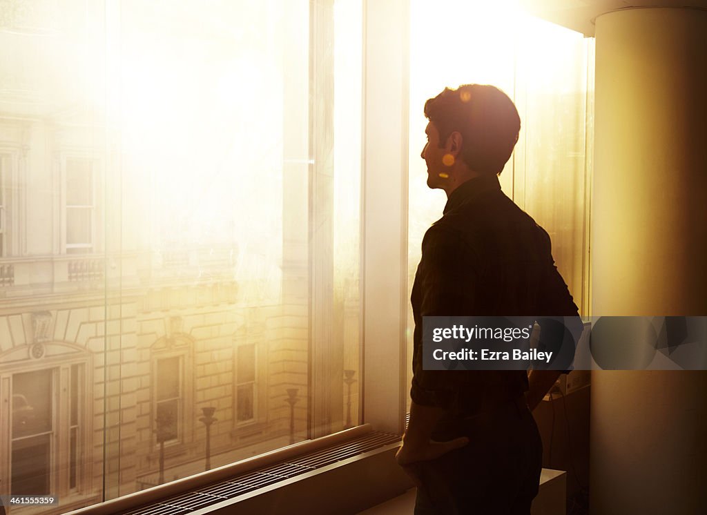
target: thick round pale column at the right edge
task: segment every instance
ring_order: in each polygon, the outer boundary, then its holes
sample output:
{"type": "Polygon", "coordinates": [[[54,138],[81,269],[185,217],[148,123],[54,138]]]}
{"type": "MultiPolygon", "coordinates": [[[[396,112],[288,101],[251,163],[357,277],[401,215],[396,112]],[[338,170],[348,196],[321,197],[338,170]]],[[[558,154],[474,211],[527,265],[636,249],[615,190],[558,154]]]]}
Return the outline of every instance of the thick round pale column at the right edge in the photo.
{"type": "MultiPolygon", "coordinates": [[[[707,315],[707,12],[596,20],[592,314],[707,315]]],[[[592,374],[592,514],[692,514],[706,372],[592,374]]]]}

